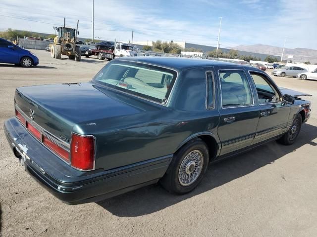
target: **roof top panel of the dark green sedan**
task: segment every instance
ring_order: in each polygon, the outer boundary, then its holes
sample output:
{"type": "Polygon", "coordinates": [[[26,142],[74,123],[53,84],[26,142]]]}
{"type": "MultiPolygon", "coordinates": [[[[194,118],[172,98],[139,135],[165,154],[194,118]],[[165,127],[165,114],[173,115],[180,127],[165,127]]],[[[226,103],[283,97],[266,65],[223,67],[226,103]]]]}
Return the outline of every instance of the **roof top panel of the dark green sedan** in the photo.
{"type": "Polygon", "coordinates": [[[185,69],[192,67],[203,66],[237,66],[237,67],[249,67],[236,63],[228,63],[216,60],[208,59],[193,59],[193,58],[173,58],[173,57],[124,57],[119,60],[134,61],[141,63],[155,64],[162,67],[185,69]]]}

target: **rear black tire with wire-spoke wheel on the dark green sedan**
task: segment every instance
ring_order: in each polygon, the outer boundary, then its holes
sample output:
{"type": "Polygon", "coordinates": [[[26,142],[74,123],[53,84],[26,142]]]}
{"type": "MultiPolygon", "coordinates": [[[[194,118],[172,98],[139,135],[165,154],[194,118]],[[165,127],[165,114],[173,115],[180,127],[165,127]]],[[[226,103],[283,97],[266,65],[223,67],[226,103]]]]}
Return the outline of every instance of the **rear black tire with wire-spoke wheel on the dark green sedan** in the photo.
{"type": "MultiPolygon", "coordinates": [[[[195,155],[194,155],[195,156],[195,155]]],[[[188,143],[186,143],[183,147],[181,147],[175,154],[170,163],[166,173],[160,179],[160,184],[169,192],[176,194],[185,194],[192,191],[196,186],[201,182],[203,176],[206,172],[209,163],[209,153],[208,148],[205,142],[203,142],[199,138],[195,138],[188,143]],[[202,160],[202,165],[200,168],[200,172],[196,170],[199,167],[199,162],[188,161],[188,157],[192,154],[198,154],[198,156],[202,156],[200,160],[202,160]],[[184,161],[184,162],[183,162],[184,161]],[[185,164],[187,162],[186,168],[185,164]],[[182,167],[182,168],[181,168],[182,167]],[[188,169],[188,170],[187,170],[188,169]],[[190,177],[190,174],[194,174],[196,170],[197,176],[194,177],[193,180],[185,185],[185,183],[181,183],[182,175],[187,175],[190,177]],[[187,173],[192,172],[192,173],[187,173]]],[[[185,180],[187,181],[187,180],[185,180]]]]}

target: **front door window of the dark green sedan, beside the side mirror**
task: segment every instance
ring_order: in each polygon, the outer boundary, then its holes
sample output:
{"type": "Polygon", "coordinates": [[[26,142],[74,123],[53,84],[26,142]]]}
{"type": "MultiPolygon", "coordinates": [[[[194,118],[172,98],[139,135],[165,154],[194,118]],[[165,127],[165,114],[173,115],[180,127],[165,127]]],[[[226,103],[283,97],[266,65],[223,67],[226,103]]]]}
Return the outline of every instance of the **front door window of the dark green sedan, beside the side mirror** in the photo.
{"type": "Polygon", "coordinates": [[[278,102],[279,95],[274,86],[263,75],[257,73],[250,73],[253,81],[257,87],[259,103],[278,102]]]}

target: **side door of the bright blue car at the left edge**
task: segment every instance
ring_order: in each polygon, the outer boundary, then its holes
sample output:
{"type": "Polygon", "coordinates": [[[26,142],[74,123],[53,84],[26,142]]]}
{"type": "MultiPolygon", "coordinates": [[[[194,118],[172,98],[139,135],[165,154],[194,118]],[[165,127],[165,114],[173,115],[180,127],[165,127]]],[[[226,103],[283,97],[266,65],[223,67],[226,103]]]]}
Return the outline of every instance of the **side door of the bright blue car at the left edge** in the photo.
{"type": "Polygon", "coordinates": [[[19,63],[18,48],[7,40],[0,39],[0,63],[19,63]]]}

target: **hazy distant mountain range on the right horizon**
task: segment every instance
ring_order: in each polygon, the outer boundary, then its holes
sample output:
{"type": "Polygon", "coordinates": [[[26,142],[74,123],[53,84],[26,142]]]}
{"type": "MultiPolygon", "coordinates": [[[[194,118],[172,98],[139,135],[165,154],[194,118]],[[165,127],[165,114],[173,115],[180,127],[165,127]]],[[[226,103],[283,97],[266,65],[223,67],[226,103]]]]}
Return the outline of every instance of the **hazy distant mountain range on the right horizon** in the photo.
{"type": "MultiPolygon", "coordinates": [[[[265,44],[253,44],[253,45],[238,45],[235,47],[228,47],[230,49],[236,49],[241,51],[264,53],[269,55],[281,56],[283,48],[275,47],[265,44]]],[[[293,62],[305,62],[317,63],[317,50],[310,48],[285,48],[283,59],[287,60],[288,55],[293,55],[293,62]]]]}

